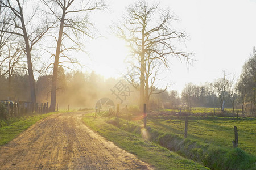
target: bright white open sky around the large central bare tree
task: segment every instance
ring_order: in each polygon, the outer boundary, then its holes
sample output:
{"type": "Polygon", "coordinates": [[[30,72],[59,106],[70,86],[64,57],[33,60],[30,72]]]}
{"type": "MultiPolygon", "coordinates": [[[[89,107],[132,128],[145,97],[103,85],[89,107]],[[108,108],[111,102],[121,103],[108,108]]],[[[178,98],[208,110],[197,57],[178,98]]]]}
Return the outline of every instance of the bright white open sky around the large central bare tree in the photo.
{"type": "MultiPolygon", "coordinates": [[[[125,6],[135,1],[108,0],[108,10],[91,15],[101,35],[89,41],[84,57],[85,70],[94,70],[106,78],[118,77],[125,70],[129,49],[125,42],[111,35],[109,25],[121,18],[125,6]]],[[[152,1],[148,1],[152,2],[152,1]]],[[[156,1],[154,1],[156,2],[156,1]]],[[[226,73],[240,75],[242,65],[256,46],[256,1],[249,0],[162,0],[160,6],[170,7],[180,19],[177,29],[190,37],[185,52],[193,52],[193,66],[170,57],[171,71],[166,71],[164,82],[175,82],[169,90],[181,92],[186,83],[213,82],[226,73]]],[[[163,82],[163,84],[164,84],[163,82]]]]}

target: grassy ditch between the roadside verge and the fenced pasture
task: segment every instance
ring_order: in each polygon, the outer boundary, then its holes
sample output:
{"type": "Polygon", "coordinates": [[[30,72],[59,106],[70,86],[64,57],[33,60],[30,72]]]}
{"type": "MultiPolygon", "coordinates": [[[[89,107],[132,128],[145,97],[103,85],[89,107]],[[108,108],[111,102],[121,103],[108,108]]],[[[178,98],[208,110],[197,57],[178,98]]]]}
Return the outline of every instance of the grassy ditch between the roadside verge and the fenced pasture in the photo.
{"type": "Polygon", "coordinates": [[[247,154],[240,148],[218,146],[195,138],[184,139],[173,130],[159,130],[161,128],[154,125],[150,126],[151,128],[143,129],[139,127],[139,122],[126,124],[126,120],[121,118],[112,118],[108,123],[126,131],[142,134],[144,139],[175,151],[177,154],[199,162],[210,169],[256,168],[255,156],[247,154]]]}

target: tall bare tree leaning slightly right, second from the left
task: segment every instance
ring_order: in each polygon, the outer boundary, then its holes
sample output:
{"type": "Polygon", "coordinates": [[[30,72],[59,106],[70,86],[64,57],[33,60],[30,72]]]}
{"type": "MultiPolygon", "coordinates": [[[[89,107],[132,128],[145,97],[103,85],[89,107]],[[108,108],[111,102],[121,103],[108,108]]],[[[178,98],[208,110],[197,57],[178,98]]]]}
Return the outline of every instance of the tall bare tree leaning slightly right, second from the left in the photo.
{"type": "Polygon", "coordinates": [[[55,111],[56,107],[56,87],[57,74],[59,66],[67,67],[64,63],[79,64],[74,61],[67,52],[72,50],[82,50],[81,37],[93,37],[90,31],[90,26],[93,24],[89,22],[88,14],[93,10],[103,10],[105,4],[103,1],[74,1],[74,0],[41,0],[48,8],[48,13],[51,14],[53,20],[56,21],[57,35],[51,35],[56,41],[56,51],[52,54],[54,57],[52,87],[51,87],[51,106],[50,111],[55,111]],[[65,39],[65,41],[64,41],[65,39]],[[65,45],[64,42],[69,42],[72,45],[65,45]],[[60,57],[65,58],[60,61],[60,57]]]}

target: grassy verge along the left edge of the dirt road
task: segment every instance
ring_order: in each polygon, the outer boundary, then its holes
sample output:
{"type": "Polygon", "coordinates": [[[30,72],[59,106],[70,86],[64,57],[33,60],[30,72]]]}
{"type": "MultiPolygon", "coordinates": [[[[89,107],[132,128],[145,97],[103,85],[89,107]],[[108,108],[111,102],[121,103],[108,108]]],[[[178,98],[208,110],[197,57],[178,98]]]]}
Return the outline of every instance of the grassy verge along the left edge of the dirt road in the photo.
{"type": "Polygon", "coordinates": [[[37,121],[57,113],[60,112],[51,112],[34,116],[13,118],[13,120],[9,121],[9,125],[2,126],[0,128],[0,146],[13,140],[16,136],[18,136],[24,130],[30,128],[30,126],[34,125],[37,121]]]}

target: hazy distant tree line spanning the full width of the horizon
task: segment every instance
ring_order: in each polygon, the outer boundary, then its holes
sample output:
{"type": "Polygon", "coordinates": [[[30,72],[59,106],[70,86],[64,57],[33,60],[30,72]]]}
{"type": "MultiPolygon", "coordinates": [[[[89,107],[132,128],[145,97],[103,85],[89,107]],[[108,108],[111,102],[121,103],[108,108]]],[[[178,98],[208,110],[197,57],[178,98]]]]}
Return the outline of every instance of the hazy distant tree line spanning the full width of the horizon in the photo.
{"type": "MultiPolygon", "coordinates": [[[[240,78],[235,80],[230,74],[214,80],[212,83],[196,85],[186,84],[179,94],[176,90],[163,91],[154,95],[148,102],[150,109],[178,109],[192,107],[214,107],[222,108],[225,100],[225,108],[242,110],[242,113],[255,114],[255,49],[253,56],[243,65],[240,78]]],[[[92,73],[81,73],[71,71],[65,73],[63,67],[59,67],[57,76],[57,98],[59,107],[94,107],[94,104],[101,97],[115,98],[110,89],[115,86],[118,79],[104,79],[101,75],[92,73]]],[[[26,72],[17,72],[11,76],[0,77],[0,100],[27,101],[30,99],[30,87],[28,86],[28,75],[26,72]],[[10,84],[9,84],[10,83],[10,84]]],[[[36,96],[40,102],[47,102],[51,99],[52,75],[42,75],[35,81],[36,96]]],[[[129,84],[123,79],[124,83],[129,84]]],[[[134,89],[131,88],[131,91],[134,89]]],[[[139,91],[134,91],[127,98],[129,101],[138,101],[139,91]]],[[[116,101],[115,103],[118,103],[116,101]]],[[[126,102],[126,104],[129,102],[126,102]]],[[[129,104],[137,104],[129,103],[129,104]]]]}

